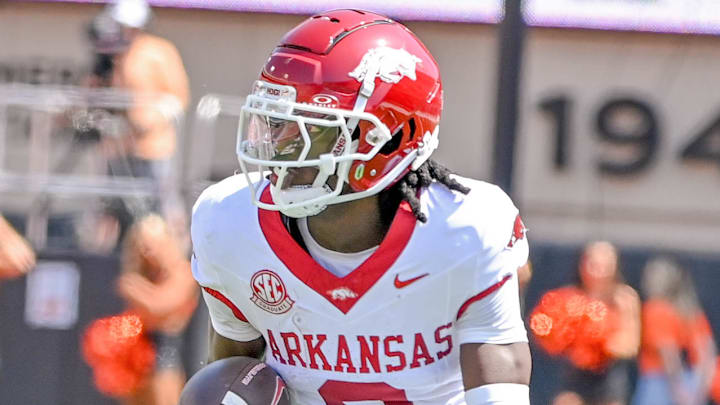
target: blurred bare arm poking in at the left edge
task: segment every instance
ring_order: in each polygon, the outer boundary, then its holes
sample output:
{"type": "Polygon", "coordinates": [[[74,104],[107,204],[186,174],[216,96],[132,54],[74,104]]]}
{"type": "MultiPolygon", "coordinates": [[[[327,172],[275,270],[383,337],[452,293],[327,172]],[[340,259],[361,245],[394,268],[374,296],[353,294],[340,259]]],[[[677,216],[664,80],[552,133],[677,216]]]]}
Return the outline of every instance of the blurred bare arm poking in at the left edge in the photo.
{"type": "Polygon", "coordinates": [[[0,280],[19,277],[35,267],[30,244],[0,215],[0,280]]]}

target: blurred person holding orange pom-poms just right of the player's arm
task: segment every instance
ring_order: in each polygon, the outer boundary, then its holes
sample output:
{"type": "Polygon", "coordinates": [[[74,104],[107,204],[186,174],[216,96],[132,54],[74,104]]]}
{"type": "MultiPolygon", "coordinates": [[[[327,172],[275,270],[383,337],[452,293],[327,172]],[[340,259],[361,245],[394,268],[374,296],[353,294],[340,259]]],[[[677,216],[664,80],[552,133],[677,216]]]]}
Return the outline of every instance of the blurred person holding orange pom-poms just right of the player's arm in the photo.
{"type": "Polygon", "coordinates": [[[578,279],[546,293],[530,318],[540,346],[569,363],[553,405],[623,405],[640,345],[640,298],[607,241],[585,246],[578,279]]]}

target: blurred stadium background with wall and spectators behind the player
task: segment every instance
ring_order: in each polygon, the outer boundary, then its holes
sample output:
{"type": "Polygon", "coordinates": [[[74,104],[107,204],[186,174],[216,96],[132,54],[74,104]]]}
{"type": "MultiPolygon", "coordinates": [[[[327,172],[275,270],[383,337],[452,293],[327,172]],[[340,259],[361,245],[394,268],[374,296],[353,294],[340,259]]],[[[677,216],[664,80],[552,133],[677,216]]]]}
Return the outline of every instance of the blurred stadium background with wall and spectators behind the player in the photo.
{"type": "MultiPolygon", "coordinates": [[[[532,403],[709,403],[720,5],[507,1],[342,6],[421,38],[445,89],[436,160],[520,208],[532,403]]],[[[236,113],[270,50],[337,6],[0,0],[0,403],[160,404],[201,367],[189,210],[238,168],[236,113]],[[118,322],[132,364],[98,349],[118,322]]]]}

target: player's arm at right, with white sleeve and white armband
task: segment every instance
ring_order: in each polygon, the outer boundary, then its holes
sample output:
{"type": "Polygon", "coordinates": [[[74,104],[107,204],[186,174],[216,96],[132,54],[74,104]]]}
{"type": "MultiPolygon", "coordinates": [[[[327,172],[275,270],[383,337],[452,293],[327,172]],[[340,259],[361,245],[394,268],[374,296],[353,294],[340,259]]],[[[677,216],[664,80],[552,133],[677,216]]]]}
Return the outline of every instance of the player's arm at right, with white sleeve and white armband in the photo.
{"type": "Polygon", "coordinates": [[[532,361],[522,319],[518,269],[528,261],[527,228],[499,188],[484,195],[493,215],[478,229],[472,296],[460,306],[455,329],[468,405],[529,405],[532,361]]]}

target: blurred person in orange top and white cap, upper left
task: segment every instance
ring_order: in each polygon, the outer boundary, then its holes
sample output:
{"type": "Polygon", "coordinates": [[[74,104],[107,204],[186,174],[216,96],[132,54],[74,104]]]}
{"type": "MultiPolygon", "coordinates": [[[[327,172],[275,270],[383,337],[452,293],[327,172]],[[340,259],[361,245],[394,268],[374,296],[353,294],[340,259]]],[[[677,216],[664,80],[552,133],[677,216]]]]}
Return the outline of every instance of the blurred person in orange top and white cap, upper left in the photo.
{"type": "Polygon", "coordinates": [[[102,218],[97,226],[95,242],[101,246],[114,246],[134,218],[147,211],[161,213],[174,232],[183,238],[186,234],[186,212],[172,167],[177,134],[167,111],[173,106],[187,108],[188,77],[175,46],[144,30],[150,18],[145,0],[118,0],[96,16],[89,29],[95,66],[87,84],[143,98],[124,112],[124,133],[103,139],[110,174],[151,178],[157,182],[161,199],[146,209],[138,209],[128,199],[113,201],[113,215],[102,218]],[[168,108],[156,107],[163,105],[168,108]]]}

